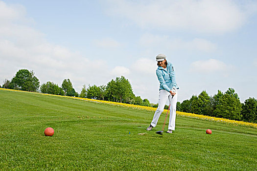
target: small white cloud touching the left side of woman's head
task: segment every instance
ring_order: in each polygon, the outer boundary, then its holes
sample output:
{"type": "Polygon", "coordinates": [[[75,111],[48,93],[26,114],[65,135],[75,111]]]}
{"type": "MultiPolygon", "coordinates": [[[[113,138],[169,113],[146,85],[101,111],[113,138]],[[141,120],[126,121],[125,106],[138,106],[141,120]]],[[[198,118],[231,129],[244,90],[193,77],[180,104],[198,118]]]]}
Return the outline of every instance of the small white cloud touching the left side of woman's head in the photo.
{"type": "Polygon", "coordinates": [[[140,73],[154,75],[157,68],[157,63],[154,60],[140,58],[132,65],[132,68],[140,73]]]}

